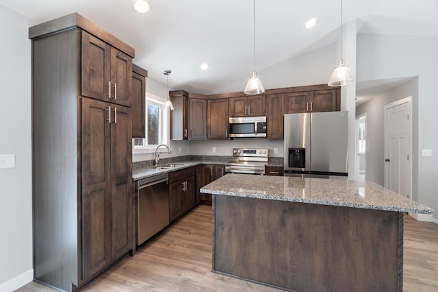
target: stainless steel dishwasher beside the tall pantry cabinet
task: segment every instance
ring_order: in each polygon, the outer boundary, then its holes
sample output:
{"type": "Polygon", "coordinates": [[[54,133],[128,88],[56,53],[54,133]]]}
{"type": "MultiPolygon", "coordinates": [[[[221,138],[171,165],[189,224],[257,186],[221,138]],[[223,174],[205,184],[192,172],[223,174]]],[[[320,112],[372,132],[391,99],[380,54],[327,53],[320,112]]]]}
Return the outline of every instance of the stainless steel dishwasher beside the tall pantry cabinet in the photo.
{"type": "Polygon", "coordinates": [[[169,225],[168,173],[138,180],[137,245],[169,225]]]}

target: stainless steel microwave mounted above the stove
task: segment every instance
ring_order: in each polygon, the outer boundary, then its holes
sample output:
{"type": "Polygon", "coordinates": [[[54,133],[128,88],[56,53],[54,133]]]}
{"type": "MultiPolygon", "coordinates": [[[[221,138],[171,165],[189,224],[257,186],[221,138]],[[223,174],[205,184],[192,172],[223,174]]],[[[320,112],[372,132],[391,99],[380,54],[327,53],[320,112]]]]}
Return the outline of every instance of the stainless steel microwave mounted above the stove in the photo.
{"type": "Polygon", "coordinates": [[[266,137],[266,117],[229,118],[230,138],[266,137]]]}

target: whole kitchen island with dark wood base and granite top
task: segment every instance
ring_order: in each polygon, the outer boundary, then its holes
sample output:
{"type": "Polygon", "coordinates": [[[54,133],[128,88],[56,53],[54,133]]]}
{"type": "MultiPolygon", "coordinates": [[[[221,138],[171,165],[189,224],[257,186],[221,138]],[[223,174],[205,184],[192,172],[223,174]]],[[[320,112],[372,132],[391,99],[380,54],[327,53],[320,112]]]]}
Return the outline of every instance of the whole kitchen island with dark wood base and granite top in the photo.
{"type": "Polygon", "coordinates": [[[213,196],[212,271],[290,291],[402,291],[404,212],[371,182],[227,174],[213,196]]]}

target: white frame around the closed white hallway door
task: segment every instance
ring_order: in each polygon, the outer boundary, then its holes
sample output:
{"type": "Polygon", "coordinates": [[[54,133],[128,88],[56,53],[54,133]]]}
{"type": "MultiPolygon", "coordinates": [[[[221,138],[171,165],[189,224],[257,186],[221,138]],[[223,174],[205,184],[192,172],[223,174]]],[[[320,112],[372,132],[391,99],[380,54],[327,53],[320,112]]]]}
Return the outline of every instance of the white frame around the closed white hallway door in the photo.
{"type": "MultiPolygon", "coordinates": [[[[413,194],[412,194],[412,165],[413,165],[413,163],[412,163],[412,159],[413,159],[413,156],[412,156],[412,149],[413,149],[413,139],[412,139],[412,123],[413,123],[413,117],[412,117],[412,96],[409,96],[409,97],[405,97],[405,98],[403,98],[403,99],[399,99],[398,101],[394,101],[394,102],[392,102],[391,104],[387,104],[387,105],[385,105],[384,107],[383,107],[383,119],[384,119],[384,128],[383,128],[383,140],[384,140],[384,158],[387,158],[387,155],[388,155],[388,153],[387,153],[387,139],[388,139],[388,134],[387,134],[387,110],[389,109],[389,108],[394,108],[394,107],[396,107],[396,106],[400,106],[400,105],[402,105],[402,104],[406,104],[406,103],[409,103],[409,110],[408,110],[408,114],[409,114],[409,131],[410,131],[410,133],[409,133],[409,135],[410,135],[410,137],[411,137],[411,149],[409,150],[409,157],[410,157],[410,160],[409,160],[409,173],[410,173],[410,175],[409,175],[409,184],[410,184],[410,190],[409,190],[409,199],[412,201],[412,197],[413,197],[413,194]]],[[[384,169],[384,171],[385,171],[385,173],[384,173],[384,175],[385,175],[385,178],[384,178],[384,182],[385,182],[385,188],[388,188],[388,177],[387,177],[387,173],[388,173],[388,167],[389,167],[389,165],[387,164],[387,163],[385,163],[385,162],[383,162],[383,165],[385,166],[385,169],[384,169]]]]}

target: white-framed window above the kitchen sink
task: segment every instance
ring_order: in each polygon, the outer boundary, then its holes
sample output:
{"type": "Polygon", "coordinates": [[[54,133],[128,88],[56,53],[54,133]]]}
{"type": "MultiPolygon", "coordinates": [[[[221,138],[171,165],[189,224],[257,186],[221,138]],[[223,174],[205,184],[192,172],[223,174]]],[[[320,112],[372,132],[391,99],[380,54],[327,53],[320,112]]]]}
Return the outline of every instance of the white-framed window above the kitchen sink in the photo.
{"type": "Polygon", "coordinates": [[[146,136],[133,139],[133,154],[150,153],[160,144],[169,143],[169,113],[164,99],[149,94],[146,97],[146,136]]]}

